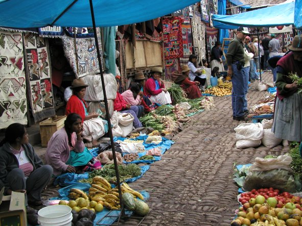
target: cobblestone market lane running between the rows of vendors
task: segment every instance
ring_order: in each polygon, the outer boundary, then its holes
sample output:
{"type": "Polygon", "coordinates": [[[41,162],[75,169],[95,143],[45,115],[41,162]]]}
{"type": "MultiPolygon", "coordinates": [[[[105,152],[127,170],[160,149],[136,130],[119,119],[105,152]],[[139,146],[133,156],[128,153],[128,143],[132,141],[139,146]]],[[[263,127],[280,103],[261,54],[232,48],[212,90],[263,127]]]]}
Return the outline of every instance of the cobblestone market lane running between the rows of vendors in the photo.
{"type": "MultiPolygon", "coordinates": [[[[272,74],[265,72],[263,80],[272,82],[272,74]]],[[[267,96],[257,90],[258,84],[251,84],[248,107],[267,96]]],[[[244,121],[233,120],[230,96],[214,99],[215,108],[192,116],[161,161],[151,164],[141,179],[130,184],[150,192],[150,213],[141,225],[230,225],[239,206],[238,187],[231,179],[234,165],[288,151],[282,145],[236,149],[234,128],[244,121]]],[[[50,189],[43,194],[55,193],[50,189]]],[[[136,224],[132,219],[124,223],[136,224]]]]}

